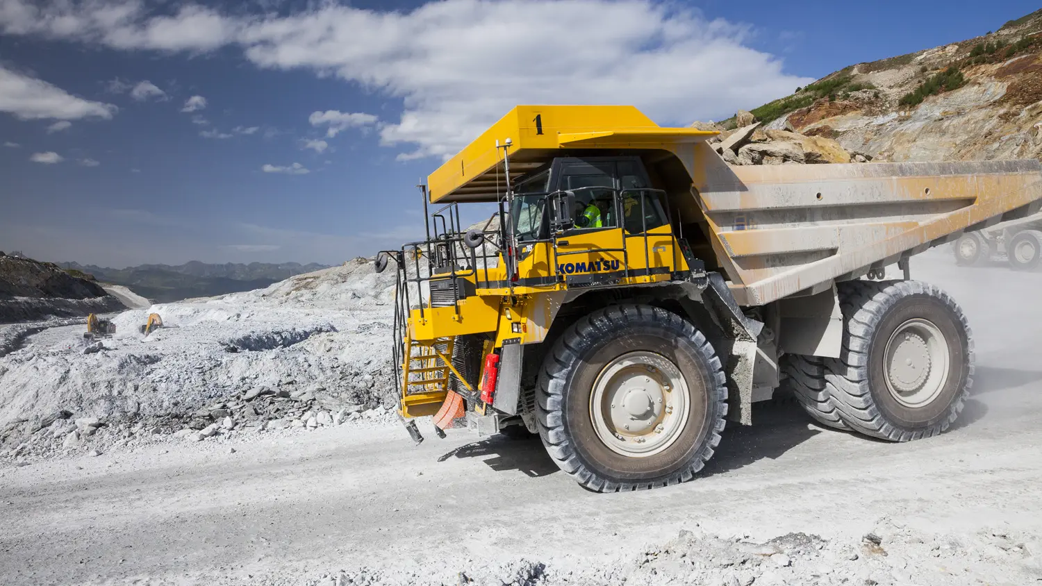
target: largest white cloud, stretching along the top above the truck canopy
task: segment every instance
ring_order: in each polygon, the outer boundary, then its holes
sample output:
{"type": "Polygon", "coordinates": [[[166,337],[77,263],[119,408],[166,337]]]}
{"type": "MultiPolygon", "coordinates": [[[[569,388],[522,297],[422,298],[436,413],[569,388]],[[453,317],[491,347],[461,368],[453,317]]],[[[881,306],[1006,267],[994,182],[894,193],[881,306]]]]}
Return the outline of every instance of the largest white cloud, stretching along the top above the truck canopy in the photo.
{"type": "Polygon", "coordinates": [[[748,27],[654,0],[445,0],[411,11],[316,2],[265,15],[156,14],[134,0],[3,6],[8,34],[194,53],[230,46],[262,68],[358,83],[404,104],[380,138],[412,145],[406,158],[448,156],[519,103],[634,104],[680,125],[812,81],[747,46],[748,27]]]}

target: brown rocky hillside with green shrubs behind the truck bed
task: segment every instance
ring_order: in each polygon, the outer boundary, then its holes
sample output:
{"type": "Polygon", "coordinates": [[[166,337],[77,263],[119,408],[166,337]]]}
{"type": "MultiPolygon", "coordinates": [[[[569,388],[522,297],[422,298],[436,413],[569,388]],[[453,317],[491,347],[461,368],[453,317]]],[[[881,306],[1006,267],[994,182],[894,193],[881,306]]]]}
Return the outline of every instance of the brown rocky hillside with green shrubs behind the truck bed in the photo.
{"type": "MultiPolygon", "coordinates": [[[[833,138],[865,159],[1042,158],[1040,53],[1042,10],[984,36],[844,68],[751,114],[762,131],[833,138]]],[[[737,118],[720,125],[750,122],[737,118]]]]}

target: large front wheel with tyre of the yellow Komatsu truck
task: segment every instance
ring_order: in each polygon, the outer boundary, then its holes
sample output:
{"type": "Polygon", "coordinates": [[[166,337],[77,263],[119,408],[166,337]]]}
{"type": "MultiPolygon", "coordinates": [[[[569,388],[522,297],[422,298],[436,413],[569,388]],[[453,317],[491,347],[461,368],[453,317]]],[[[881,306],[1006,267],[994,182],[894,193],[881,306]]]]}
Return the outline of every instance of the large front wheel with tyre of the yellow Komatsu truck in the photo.
{"type": "Polygon", "coordinates": [[[724,374],[690,323],[648,305],[582,317],[553,345],[536,415],[550,457],[600,492],[691,480],[720,442],[724,374]]]}

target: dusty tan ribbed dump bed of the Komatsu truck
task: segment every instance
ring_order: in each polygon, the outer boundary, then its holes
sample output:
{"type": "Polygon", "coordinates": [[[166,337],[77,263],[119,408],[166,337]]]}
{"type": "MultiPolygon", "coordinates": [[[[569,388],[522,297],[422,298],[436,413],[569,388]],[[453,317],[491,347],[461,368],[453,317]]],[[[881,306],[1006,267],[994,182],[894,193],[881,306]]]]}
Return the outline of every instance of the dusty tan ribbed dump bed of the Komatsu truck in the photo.
{"type": "Polygon", "coordinates": [[[813,291],[1042,205],[1034,159],[730,167],[700,147],[693,197],[742,305],[813,291]]]}

